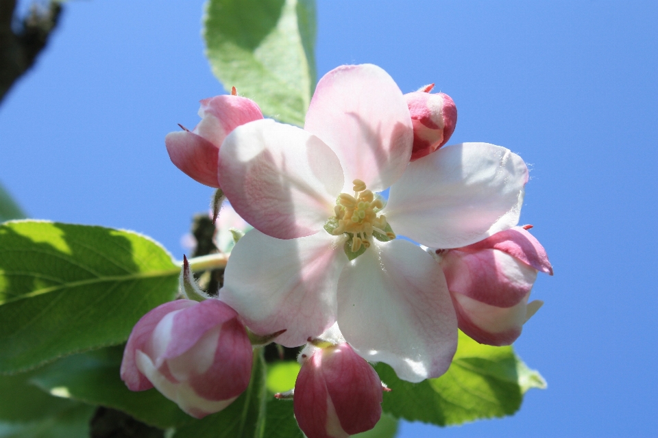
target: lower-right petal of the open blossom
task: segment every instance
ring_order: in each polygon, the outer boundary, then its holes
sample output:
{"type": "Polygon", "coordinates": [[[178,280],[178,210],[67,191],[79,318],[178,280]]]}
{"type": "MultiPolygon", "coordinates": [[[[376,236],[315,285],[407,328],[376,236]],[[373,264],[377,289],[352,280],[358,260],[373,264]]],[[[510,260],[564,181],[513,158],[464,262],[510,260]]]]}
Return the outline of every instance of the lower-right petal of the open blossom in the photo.
{"type": "Polygon", "coordinates": [[[446,372],[457,345],[443,272],[406,240],[374,242],[345,266],[338,284],[338,325],[359,355],[388,363],[410,382],[446,372]]]}

